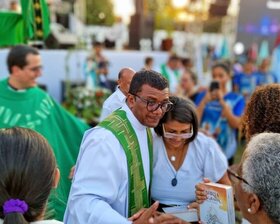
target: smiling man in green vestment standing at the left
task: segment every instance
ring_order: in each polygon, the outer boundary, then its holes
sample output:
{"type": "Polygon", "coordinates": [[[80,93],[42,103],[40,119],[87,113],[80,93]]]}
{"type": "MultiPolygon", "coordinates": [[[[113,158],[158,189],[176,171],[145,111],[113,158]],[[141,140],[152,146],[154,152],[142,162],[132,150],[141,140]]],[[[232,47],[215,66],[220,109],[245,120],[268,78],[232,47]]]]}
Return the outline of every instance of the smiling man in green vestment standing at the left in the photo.
{"type": "Polygon", "coordinates": [[[0,81],[0,128],[31,128],[50,143],[61,172],[60,184],[53,192],[48,214],[62,220],[70,190],[68,179],[79,145],[88,125],[68,113],[46,92],[37,87],[42,62],[37,49],[13,47],[7,57],[9,77],[0,81]]]}

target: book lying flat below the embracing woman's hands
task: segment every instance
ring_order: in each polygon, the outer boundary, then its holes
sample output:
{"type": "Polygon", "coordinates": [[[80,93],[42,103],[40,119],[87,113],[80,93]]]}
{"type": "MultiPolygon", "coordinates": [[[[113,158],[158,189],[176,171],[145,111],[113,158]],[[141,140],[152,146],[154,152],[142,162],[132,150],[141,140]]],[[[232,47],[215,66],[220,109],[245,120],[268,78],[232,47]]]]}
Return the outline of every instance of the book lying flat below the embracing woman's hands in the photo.
{"type": "Polygon", "coordinates": [[[198,215],[196,209],[188,209],[186,205],[184,206],[173,206],[162,208],[165,213],[174,215],[187,222],[197,222],[198,215]]]}

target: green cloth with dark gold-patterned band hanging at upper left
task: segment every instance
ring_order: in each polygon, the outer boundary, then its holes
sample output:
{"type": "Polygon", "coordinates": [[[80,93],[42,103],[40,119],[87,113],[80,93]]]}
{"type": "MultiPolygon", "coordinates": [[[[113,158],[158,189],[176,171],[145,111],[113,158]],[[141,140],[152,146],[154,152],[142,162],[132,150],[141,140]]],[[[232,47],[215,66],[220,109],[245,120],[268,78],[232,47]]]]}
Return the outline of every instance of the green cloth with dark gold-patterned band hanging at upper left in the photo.
{"type": "Polygon", "coordinates": [[[25,37],[43,40],[50,33],[49,10],[45,0],[21,0],[25,37]]]}

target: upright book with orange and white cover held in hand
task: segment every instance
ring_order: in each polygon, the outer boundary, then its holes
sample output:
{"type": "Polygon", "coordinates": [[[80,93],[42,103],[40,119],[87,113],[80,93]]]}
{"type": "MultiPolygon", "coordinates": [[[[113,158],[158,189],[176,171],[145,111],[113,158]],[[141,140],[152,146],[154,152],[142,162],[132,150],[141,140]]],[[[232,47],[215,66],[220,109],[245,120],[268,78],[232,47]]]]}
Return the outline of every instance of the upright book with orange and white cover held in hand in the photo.
{"type": "Polygon", "coordinates": [[[233,190],[231,186],[203,183],[207,199],[200,205],[200,220],[204,224],[235,224],[233,190]]]}

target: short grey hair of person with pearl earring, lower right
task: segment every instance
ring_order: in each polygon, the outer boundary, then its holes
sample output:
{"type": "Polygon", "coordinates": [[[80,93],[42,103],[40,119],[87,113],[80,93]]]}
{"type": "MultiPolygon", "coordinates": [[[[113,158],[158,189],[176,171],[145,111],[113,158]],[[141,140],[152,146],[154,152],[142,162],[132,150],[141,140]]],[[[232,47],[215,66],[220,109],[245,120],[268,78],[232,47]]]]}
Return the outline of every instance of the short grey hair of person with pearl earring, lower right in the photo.
{"type": "Polygon", "coordinates": [[[280,223],[280,134],[261,133],[248,143],[241,162],[248,184],[242,189],[255,193],[267,215],[280,223]]]}

